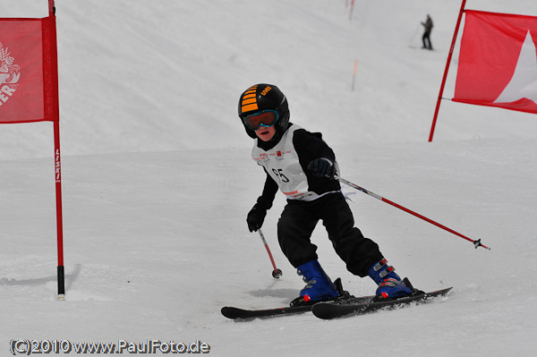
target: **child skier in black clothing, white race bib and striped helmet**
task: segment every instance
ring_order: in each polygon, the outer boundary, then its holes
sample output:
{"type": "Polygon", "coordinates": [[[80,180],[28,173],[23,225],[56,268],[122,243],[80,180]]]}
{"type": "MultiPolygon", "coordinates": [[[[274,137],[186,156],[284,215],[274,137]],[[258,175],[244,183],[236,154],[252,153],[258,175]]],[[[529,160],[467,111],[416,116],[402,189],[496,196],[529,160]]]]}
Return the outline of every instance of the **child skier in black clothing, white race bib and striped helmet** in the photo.
{"type": "Polygon", "coordinates": [[[317,246],[311,243],[319,220],[348,271],[370,276],[379,285],[376,299],[412,293],[388,266],[377,243],[354,227],[353,213],[335,179],[334,152],[320,133],[289,122],[287,99],[281,90],[264,83],[251,86],[241,95],[238,112],[246,133],[255,139],[252,158],[267,174],[262,194],[246,218],[250,232],[263,225],[277,190],[286,195],[286,207],[277,223],[278,242],[307,283],[292,305],[332,300],[343,293],[320,267],[317,246]]]}

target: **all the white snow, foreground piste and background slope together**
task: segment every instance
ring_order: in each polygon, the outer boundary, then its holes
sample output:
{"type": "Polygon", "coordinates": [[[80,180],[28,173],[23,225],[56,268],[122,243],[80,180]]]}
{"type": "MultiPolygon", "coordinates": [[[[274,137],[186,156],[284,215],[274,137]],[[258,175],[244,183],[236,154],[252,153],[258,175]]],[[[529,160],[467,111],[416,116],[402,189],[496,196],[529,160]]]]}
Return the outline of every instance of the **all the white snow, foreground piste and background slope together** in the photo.
{"type": "MultiPolygon", "coordinates": [[[[66,296],[56,301],[52,124],[1,125],[2,355],[13,338],[199,339],[216,356],[537,348],[537,117],[444,100],[427,142],[460,2],[358,0],[351,20],[344,0],[55,3],[66,296]],[[426,13],[431,52],[415,48],[426,13]],[[491,247],[345,188],[356,225],[397,272],[424,290],[454,286],[446,300],[335,321],[221,316],[225,305],[286,305],[303,287],[277,246],[283,197],[263,226],[282,278],[245,225],[264,175],[236,103],[261,81],[286,93],[294,123],[323,132],[345,179],[491,247]]],[[[466,8],[537,15],[533,0],[466,8]]],[[[0,15],[44,17],[47,2],[3,0],[0,15]]],[[[321,225],[312,240],[329,276],[374,291],[321,225]]]]}

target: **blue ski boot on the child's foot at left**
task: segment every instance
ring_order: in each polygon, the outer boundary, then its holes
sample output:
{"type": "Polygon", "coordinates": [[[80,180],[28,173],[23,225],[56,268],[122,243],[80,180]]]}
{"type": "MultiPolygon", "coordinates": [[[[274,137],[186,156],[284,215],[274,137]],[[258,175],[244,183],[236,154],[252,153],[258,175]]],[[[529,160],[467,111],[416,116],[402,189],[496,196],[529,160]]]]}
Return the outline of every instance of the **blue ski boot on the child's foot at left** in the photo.
{"type": "Polygon", "coordinates": [[[332,283],[327,273],[320,267],[319,261],[311,260],[296,269],[299,276],[307,283],[300,296],[291,302],[291,306],[310,305],[314,302],[334,300],[341,293],[337,286],[332,283]]]}

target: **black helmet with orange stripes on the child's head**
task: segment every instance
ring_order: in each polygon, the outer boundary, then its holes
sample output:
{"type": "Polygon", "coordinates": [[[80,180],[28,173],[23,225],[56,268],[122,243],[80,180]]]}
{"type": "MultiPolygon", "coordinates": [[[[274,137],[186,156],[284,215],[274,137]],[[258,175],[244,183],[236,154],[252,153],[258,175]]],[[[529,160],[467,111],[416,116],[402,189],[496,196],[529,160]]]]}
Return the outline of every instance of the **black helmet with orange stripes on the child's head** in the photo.
{"type": "Polygon", "coordinates": [[[289,106],[287,98],[277,86],[267,83],[254,84],[244,90],[239,98],[239,117],[244,125],[244,130],[253,139],[257,138],[255,132],[244,124],[244,117],[263,110],[277,111],[277,132],[286,132],[289,126],[289,106]]]}

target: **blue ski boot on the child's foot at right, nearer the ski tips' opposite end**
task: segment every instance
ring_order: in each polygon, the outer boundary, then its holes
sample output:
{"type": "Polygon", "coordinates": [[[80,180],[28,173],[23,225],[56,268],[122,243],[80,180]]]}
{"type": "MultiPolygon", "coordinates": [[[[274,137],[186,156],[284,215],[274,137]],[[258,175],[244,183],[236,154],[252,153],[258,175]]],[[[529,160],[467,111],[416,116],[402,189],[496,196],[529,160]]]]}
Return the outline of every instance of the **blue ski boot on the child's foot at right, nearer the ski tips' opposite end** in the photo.
{"type": "Polygon", "coordinates": [[[412,287],[407,286],[394,270],[394,267],[388,266],[386,259],[382,259],[367,272],[368,276],[379,285],[375,296],[376,301],[396,299],[413,293],[412,287]]]}

